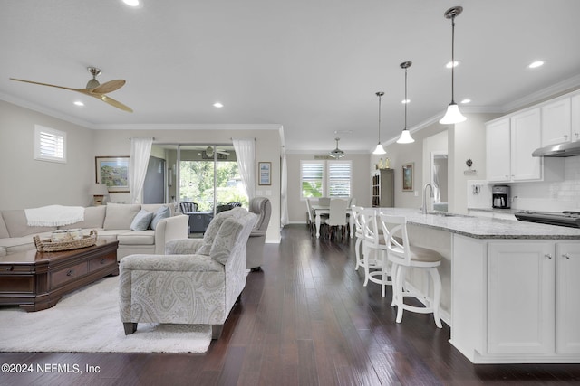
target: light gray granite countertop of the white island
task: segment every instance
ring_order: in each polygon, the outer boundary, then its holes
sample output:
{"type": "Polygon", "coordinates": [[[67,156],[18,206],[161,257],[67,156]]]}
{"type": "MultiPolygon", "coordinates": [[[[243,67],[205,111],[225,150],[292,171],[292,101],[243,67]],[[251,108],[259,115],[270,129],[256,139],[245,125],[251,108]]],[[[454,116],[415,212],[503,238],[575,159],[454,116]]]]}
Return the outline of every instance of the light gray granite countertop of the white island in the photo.
{"type": "Polygon", "coordinates": [[[580,240],[580,228],[448,212],[423,214],[415,208],[380,208],[380,211],[385,214],[403,215],[407,217],[410,225],[449,231],[474,239],[580,240]]]}

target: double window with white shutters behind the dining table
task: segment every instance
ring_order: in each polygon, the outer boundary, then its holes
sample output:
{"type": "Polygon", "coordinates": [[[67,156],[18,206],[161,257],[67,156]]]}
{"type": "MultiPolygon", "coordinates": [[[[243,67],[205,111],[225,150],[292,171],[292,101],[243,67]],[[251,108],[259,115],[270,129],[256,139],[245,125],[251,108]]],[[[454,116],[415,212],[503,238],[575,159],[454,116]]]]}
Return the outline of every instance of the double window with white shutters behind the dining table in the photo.
{"type": "Polygon", "coordinates": [[[300,161],[301,198],[350,197],[351,161],[300,161]]]}

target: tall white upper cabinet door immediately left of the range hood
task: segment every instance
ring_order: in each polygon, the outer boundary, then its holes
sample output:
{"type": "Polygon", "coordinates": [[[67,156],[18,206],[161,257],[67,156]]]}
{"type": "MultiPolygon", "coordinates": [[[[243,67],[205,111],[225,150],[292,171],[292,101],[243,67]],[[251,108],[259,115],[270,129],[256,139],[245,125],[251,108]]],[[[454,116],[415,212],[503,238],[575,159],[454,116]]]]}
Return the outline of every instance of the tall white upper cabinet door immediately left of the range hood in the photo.
{"type": "Polygon", "coordinates": [[[534,150],[542,145],[540,128],[539,108],[516,114],[510,119],[512,181],[542,178],[542,158],[532,156],[534,150]]]}

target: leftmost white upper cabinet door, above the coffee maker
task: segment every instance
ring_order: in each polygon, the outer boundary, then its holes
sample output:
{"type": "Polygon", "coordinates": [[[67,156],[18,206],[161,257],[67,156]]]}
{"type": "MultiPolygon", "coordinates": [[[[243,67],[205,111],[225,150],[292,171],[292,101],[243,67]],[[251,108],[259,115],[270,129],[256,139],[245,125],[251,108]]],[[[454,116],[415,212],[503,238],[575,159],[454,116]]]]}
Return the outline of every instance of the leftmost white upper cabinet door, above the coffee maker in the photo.
{"type": "Polygon", "coordinates": [[[486,168],[489,182],[509,181],[509,118],[486,126],[486,168]]]}

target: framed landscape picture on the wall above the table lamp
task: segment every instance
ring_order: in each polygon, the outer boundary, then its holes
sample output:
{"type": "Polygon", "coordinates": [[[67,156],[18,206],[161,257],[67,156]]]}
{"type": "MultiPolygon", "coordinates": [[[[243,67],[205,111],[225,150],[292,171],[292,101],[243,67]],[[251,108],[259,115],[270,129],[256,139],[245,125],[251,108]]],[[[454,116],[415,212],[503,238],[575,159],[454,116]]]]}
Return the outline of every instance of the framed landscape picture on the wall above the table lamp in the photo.
{"type": "Polygon", "coordinates": [[[106,184],[110,193],[129,193],[131,156],[107,155],[94,157],[95,182],[106,184]]]}

